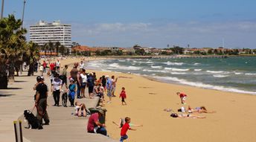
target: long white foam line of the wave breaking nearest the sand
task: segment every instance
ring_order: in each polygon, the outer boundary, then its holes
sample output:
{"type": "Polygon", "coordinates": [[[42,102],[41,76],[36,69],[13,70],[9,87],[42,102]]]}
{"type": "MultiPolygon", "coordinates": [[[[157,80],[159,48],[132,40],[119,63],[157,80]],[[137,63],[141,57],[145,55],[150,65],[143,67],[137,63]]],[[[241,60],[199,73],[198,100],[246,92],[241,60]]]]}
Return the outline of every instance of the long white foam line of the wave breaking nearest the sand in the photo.
{"type": "Polygon", "coordinates": [[[214,90],[220,90],[220,91],[231,91],[231,92],[236,92],[236,93],[243,93],[243,94],[256,94],[254,91],[243,91],[239,90],[237,88],[227,88],[224,86],[220,85],[209,85],[209,84],[204,84],[204,83],[195,83],[195,82],[189,82],[188,80],[182,80],[177,77],[155,77],[156,79],[160,80],[171,80],[177,83],[185,84],[185,85],[191,85],[199,88],[209,88],[209,89],[214,89],[214,90]]]}

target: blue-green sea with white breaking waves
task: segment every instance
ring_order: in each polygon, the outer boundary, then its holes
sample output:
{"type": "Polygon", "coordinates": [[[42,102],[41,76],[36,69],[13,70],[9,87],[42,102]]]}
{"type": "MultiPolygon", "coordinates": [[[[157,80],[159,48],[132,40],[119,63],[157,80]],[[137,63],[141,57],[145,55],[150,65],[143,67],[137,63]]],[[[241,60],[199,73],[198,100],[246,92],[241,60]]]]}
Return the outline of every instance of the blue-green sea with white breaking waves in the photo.
{"type": "Polygon", "coordinates": [[[87,68],[153,77],[164,83],[256,94],[256,57],[183,59],[109,59],[87,68]]]}

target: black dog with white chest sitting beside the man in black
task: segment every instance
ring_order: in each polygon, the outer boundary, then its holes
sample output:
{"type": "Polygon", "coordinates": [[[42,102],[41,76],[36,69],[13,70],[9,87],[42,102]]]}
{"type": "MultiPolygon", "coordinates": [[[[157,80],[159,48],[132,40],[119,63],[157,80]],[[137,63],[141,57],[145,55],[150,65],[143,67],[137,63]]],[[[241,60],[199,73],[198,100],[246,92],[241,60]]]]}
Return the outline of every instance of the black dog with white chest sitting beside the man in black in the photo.
{"type": "Polygon", "coordinates": [[[28,129],[42,129],[42,125],[40,125],[39,120],[33,115],[30,110],[24,111],[24,117],[28,120],[28,129]]]}

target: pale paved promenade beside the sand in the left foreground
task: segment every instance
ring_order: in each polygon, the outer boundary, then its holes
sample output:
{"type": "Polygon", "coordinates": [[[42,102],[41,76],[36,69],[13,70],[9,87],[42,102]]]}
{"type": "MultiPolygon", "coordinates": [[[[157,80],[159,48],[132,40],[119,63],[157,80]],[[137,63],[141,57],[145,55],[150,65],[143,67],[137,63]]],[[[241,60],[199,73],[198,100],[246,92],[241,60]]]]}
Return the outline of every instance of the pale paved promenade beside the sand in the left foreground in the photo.
{"type": "MultiPolygon", "coordinates": [[[[23,111],[33,108],[34,91],[32,87],[36,82],[36,77],[16,77],[15,80],[16,83],[9,85],[10,89],[0,90],[0,140],[4,142],[15,141],[13,120],[18,118],[24,120],[22,117],[23,111]]],[[[50,84],[48,77],[45,78],[45,83],[50,84]]],[[[86,107],[90,108],[96,105],[97,99],[80,99],[75,101],[85,103],[86,107]]],[[[48,115],[51,122],[49,126],[43,126],[44,129],[24,129],[26,123],[22,122],[24,141],[114,141],[103,135],[87,133],[86,126],[89,116],[75,117],[74,114],[71,114],[74,112],[74,108],[56,107],[52,106],[53,104],[54,99],[50,95],[48,97],[48,115]]],[[[36,111],[33,113],[36,114],[36,111]]]]}

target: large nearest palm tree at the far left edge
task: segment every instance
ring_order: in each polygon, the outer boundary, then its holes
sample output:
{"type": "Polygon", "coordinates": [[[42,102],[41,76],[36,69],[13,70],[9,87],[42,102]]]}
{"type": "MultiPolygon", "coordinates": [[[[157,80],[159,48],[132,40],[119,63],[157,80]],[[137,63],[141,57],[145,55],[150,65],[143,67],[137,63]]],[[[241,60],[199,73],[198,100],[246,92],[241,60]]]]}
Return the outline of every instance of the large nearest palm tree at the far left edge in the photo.
{"type": "Polygon", "coordinates": [[[13,15],[0,20],[0,52],[1,71],[0,88],[7,88],[6,71],[9,71],[9,81],[14,81],[15,64],[22,57],[24,34],[27,30],[21,28],[22,21],[16,20],[13,15]]]}

